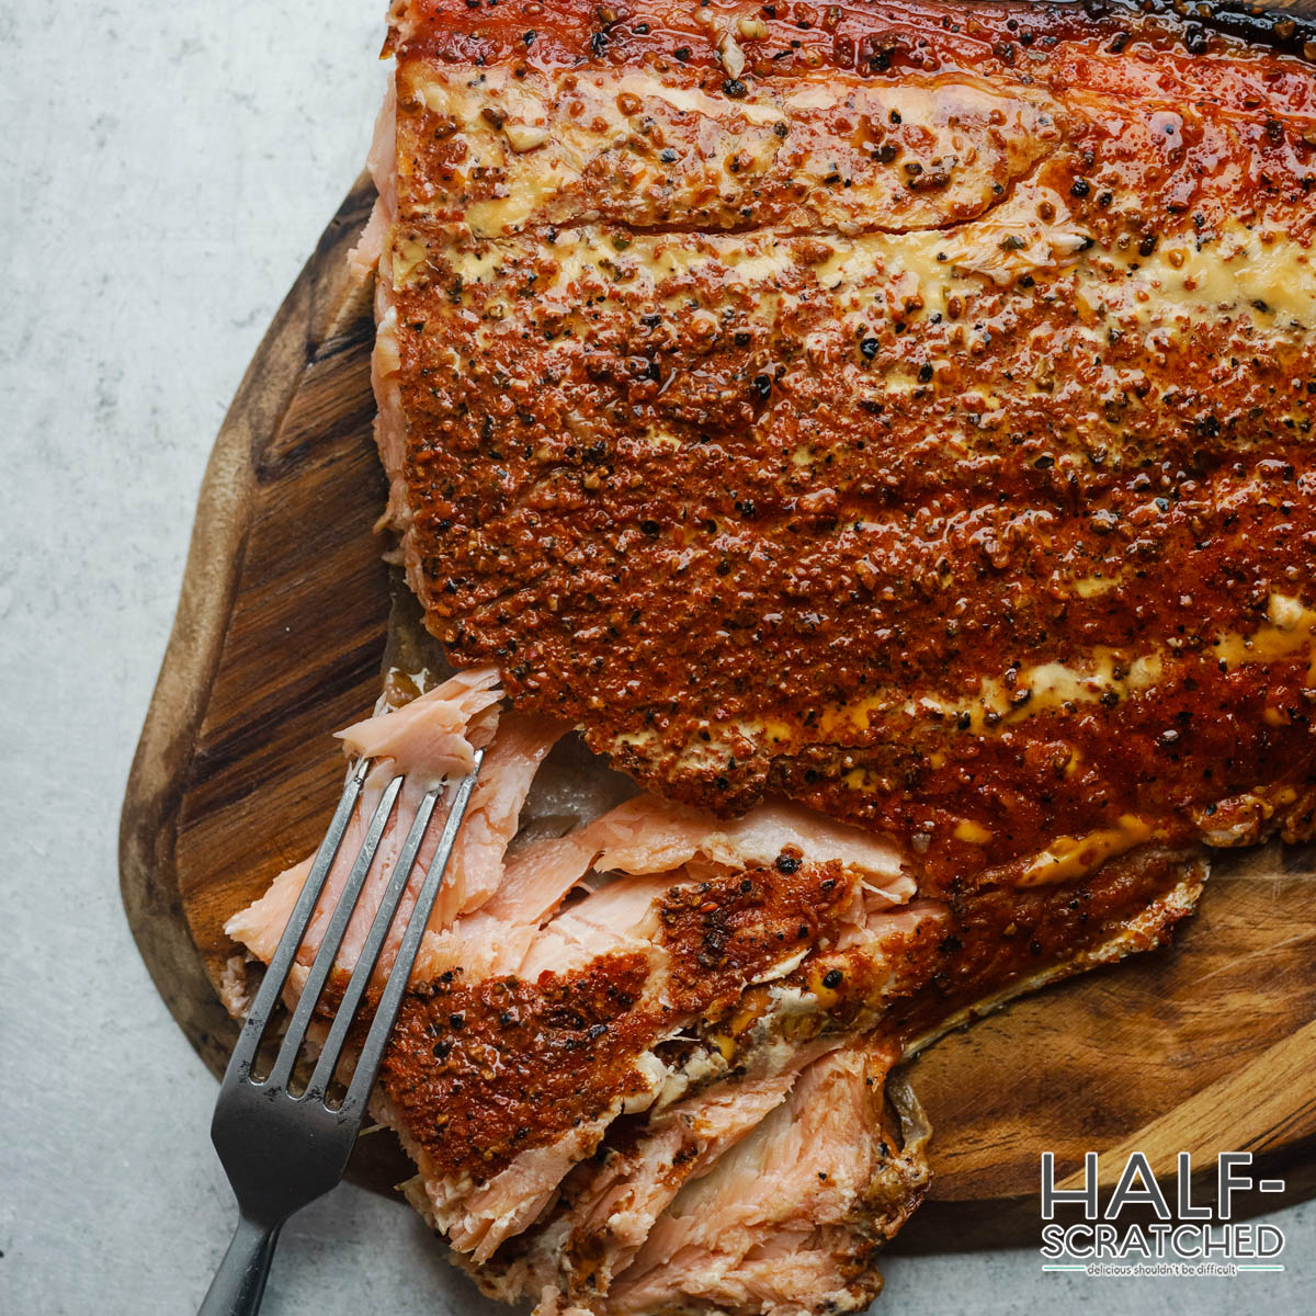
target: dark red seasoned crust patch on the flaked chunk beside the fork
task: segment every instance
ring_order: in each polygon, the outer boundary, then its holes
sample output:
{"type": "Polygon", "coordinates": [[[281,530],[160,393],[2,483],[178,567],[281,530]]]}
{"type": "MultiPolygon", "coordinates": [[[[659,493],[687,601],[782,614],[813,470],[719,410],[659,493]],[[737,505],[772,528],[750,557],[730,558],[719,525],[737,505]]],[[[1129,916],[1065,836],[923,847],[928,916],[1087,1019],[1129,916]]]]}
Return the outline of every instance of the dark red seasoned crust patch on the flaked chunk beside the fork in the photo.
{"type": "Polygon", "coordinates": [[[434,1173],[482,1183],[640,1092],[634,1061],[659,1037],[733,1003],[796,949],[834,940],[851,890],[834,865],[737,873],[663,898],[654,962],[609,953],[533,983],[443,974],[407,999],[384,1092],[434,1173]]]}

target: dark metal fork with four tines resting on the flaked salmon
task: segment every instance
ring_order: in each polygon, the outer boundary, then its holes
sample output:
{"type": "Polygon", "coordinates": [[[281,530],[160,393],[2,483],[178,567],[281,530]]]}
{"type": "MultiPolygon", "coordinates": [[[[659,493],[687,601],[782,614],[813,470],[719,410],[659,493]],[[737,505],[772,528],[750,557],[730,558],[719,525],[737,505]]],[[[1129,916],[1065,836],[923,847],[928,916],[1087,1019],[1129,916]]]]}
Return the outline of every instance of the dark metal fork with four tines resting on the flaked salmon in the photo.
{"type": "Polygon", "coordinates": [[[343,933],[347,930],[403,786],[403,778],[395,776],[384,790],[366,829],[365,844],[351,866],[342,896],[325,929],[324,941],[292,1012],[279,1054],[270,1073],[258,1079],[253,1076],[251,1067],[266,1024],[283,992],[301,938],[342,845],[343,833],[366,780],[368,761],[362,759],[347,778],[342,799],[316,853],[301,895],[288,919],[288,926],[279,941],[279,949],[270,961],[255,1003],[238,1034],[218,1100],[215,1103],[211,1138],[238,1199],[241,1216],[233,1242],[220,1262],[199,1316],[253,1316],[259,1311],[266,1278],[270,1274],[270,1261],[283,1223],[293,1212],[326,1194],[342,1178],[483,758],[484,751],[478,750],[474,771],[463,776],[453,792],[451,808],[443,824],[438,849],[421,883],[397,949],[397,958],[380,995],[365,1045],[357,1057],[347,1094],[342,1104],[334,1108],[328,1103],[328,1092],[342,1057],[353,1016],[366,996],[375,961],[407,890],[425,830],[446,790],[446,784],[436,787],[421,799],[416,819],[399,851],[397,865],[371,923],[361,958],[334,1012],[315,1071],[305,1091],[293,1096],[288,1090],[288,1080],[305,1041],[307,1026],[315,1013],[320,992],[329,979],[343,933]]]}

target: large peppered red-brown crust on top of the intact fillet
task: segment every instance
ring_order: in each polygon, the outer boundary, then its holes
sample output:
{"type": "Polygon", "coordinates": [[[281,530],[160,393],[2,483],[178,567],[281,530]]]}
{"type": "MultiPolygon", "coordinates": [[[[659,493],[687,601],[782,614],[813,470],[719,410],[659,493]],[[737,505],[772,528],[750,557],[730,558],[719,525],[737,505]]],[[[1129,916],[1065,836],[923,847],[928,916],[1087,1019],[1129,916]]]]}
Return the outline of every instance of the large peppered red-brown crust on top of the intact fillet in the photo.
{"type": "Polygon", "coordinates": [[[641,8],[605,42],[572,7],[399,28],[386,455],[454,658],[665,795],[887,830],[928,892],[1282,815],[1312,68],[841,5],[737,37],[741,95],[729,7],[641,8]]]}

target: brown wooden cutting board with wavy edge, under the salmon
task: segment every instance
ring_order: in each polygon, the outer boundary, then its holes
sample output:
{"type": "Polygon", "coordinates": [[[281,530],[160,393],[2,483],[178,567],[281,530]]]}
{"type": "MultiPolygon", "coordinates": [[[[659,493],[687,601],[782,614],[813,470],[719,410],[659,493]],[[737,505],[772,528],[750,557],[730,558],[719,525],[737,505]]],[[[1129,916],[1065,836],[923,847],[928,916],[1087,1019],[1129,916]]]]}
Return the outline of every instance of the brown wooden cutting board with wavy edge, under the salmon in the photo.
{"type": "MultiPolygon", "coordinates": [[[[342,780],[329,733],[378,691],[374,326],[345,265],[372,199],[359,180],[220,432],[124,801],[129,923],[216,1073],[234,1036],[213,990],[224,920],[315,848],[342,780]]],[[[905,1250],[1036,1241],[1044,1150],[1059,1173],[1088,1150],[1142,1149],[1158,1171],[1252,1150],[1288,1180],[1258,1209],[1316,1194],[1316,848],[1223,854],[1170,950],[1017,1001],[911,1069],[936,1180],[905,1250]]],[[[363,1141],[353,1173],[404,1177],[390,1137],[363,1141]]]]}

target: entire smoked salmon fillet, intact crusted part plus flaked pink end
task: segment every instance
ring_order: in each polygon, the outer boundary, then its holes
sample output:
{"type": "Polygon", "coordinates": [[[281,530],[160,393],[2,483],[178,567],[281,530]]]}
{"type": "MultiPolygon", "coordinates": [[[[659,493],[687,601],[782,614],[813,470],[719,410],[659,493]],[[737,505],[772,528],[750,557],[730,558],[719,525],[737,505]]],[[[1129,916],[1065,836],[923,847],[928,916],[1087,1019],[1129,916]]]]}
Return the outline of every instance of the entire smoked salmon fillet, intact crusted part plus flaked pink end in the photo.
{"type": "Polygon", "coordinates": [[[1316,32],[1170,9],[392,7],[355,259],[457,672],[345,734],[416,784],[342,967],[487,746],[375,1101],[486,1291],[862,1308],[892,1067],[1311,836],[1316,32]]]}

